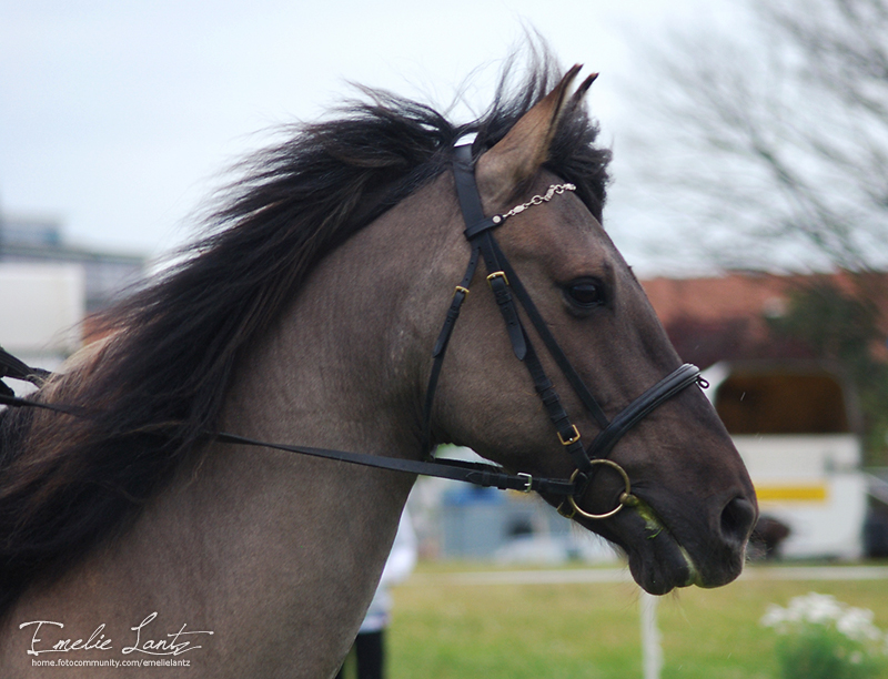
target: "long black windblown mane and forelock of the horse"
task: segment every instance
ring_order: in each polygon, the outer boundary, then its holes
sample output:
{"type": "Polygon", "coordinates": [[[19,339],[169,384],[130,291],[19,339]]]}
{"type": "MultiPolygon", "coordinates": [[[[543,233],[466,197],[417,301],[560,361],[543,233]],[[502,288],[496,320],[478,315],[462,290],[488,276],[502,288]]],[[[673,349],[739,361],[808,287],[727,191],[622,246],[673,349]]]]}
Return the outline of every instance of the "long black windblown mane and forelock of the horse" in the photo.
{"type": "MultiPolygon", "coordinates": [[[[131,526],[205,447],[232,377],[327,253],[445,172],[476,132],[495,144],[557,81],[544,55],[490,110],[454,125],[431,107],[380,91],[245,161],[242,179],[178,265],[108,314],[109,338],[36,396],[89,417],[16,411],[0,424],[0,616],[131,526]]],[[[549,169],[601,219],[609,152],[584,107],[568,111],[549,169]]]]}

